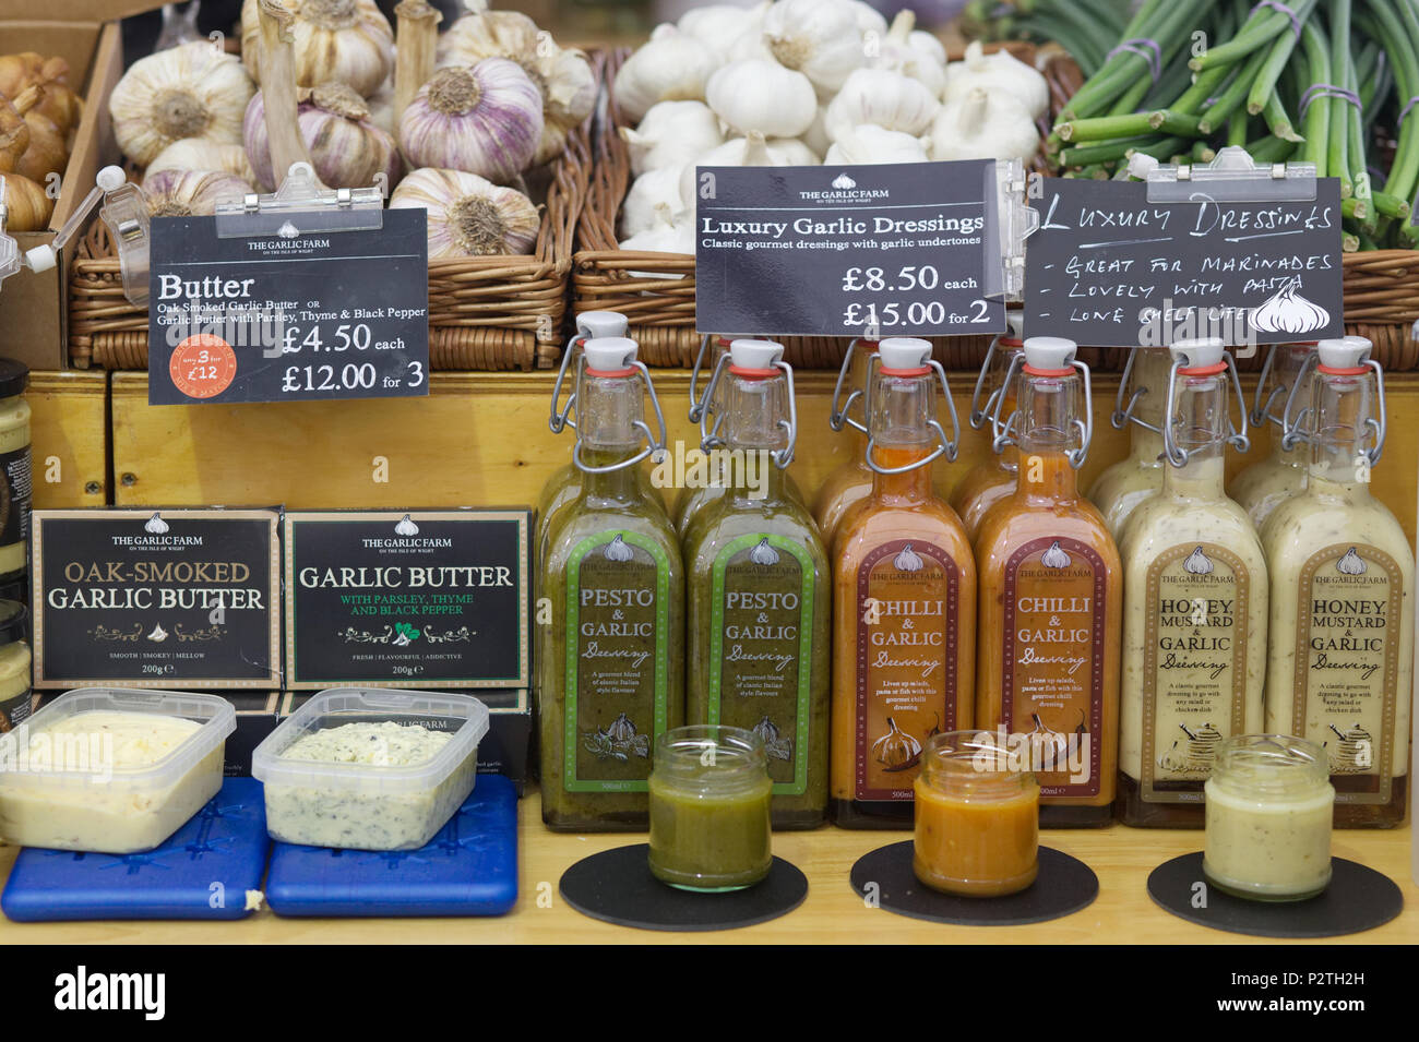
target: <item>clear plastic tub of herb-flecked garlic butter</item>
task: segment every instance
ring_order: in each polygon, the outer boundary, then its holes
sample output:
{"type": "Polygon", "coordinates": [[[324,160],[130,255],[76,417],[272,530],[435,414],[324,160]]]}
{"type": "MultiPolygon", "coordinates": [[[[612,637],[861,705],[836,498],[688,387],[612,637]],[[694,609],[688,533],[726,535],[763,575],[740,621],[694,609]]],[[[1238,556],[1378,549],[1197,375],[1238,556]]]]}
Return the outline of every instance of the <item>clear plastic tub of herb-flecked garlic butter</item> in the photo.
{"type": "Polygon", "coordinates": [[[319,692],[251,756],[267,831],[304,846],[417,849],[473,791],[487,733],[488,707],[465,695],[319,692]]]}

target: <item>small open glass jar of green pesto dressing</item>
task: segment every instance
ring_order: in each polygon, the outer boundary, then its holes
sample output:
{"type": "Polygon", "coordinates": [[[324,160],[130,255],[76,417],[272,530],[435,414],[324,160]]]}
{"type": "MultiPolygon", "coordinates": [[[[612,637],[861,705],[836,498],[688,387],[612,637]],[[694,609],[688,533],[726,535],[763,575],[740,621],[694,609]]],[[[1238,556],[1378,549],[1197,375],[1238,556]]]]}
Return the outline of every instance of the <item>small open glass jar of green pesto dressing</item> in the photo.
{"type": "Polygon", "coordinates": [[[742,890],[771,851],[768,754],[744,727],[675,727],[656,740],[650,773],[650,873],[681,890],[742,890]]]}

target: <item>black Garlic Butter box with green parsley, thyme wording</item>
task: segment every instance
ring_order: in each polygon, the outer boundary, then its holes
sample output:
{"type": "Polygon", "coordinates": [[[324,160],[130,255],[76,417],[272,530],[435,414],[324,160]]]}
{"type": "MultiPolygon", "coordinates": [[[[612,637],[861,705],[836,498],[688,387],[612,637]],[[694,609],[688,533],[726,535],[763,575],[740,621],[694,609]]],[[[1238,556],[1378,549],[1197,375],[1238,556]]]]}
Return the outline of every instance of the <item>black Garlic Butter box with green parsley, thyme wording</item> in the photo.
{"type": "Polygon", "coordinates": [[[528,510],[285,515],[285,688],[526,688],[528,510]]]}

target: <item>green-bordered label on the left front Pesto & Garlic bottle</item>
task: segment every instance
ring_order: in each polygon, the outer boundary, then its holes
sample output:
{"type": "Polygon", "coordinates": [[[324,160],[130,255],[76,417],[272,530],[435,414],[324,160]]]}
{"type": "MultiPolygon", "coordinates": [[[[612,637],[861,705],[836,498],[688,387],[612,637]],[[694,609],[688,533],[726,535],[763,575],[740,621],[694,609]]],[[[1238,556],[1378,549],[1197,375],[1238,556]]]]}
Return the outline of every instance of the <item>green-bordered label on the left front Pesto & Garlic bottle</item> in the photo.
{"type": "Polygon", "coordinates": [[[667,726],[670,563],[651,539],[606,532],[576,544],[566,574],[570,792],[644,792],[667,726]]]}

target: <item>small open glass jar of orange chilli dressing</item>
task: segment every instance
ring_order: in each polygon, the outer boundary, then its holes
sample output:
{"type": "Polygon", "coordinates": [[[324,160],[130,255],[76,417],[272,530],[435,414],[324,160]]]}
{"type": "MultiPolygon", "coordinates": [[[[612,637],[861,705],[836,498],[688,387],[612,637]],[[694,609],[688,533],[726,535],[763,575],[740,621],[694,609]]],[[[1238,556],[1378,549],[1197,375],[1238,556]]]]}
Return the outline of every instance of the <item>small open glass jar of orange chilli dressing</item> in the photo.
{"type": "Polygon", "coordinates": [[[1040,787],[990,732],[934,736],[917,775],[912,870],[934,890],[1000,897],[1034,882],[1040,787]]]}

